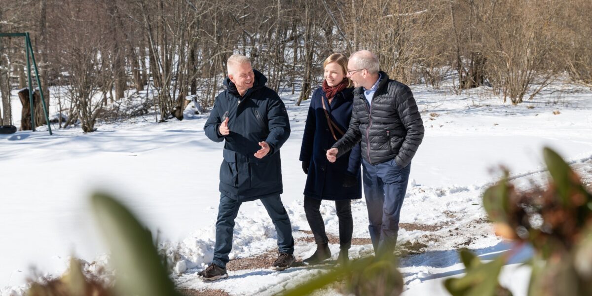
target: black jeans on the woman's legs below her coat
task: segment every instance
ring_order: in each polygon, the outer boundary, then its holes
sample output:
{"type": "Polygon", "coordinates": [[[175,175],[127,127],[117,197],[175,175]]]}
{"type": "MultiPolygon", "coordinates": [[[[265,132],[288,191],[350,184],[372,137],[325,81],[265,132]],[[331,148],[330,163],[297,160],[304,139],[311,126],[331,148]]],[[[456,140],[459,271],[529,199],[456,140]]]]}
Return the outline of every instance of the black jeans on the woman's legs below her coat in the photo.
{"type": "MultiPolygon", "coordinates": [[[[304,197],[304,213],[310,229],[313,231],[314,242],[317,244],[329,243],[327,233],[325,232],[325,223],[319,211],[321,200],[316,198],[304,197]]],[[[339,245],[341,249],[348,250],[352,245],[353,218],[352,201],[335,201],[337,218],[339,218],[339,245]]]]}

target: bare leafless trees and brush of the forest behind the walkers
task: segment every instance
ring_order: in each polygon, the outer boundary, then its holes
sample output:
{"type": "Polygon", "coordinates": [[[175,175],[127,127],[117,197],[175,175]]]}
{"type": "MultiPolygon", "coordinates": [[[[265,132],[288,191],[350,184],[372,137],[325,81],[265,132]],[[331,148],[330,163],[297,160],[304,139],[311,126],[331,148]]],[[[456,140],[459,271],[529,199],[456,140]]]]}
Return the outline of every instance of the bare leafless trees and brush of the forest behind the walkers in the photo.
{"type": "MultiPolygon", "coordinates": [[[[360,49],[398,81],[452,78],[454,92],[486,85],[520,104],[559,76],[592,84],[590,12],[589,0],[0,0],[0,32],[31,33],[47,104],[49,86],[67,89],[60,127],[87,132],[150,110],[181,119],[188,95],[211,106],[233,53],[298,104],[327,56],[360,49]]],[[[0,124],[25,65],[22,38],[0,38],[0,124]]]]}

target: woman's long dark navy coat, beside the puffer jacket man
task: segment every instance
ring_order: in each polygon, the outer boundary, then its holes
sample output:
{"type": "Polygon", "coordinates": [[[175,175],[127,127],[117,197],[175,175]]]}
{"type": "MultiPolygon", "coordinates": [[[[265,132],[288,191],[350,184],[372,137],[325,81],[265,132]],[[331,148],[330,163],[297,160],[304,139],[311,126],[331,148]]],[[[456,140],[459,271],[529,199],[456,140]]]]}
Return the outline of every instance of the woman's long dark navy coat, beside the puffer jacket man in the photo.
{"type": "MultiPolygon", "coordinates": [[[[339,157],[336,162],[327,160],[327,149],[336,140],[333,139],[329,124],[323,111],[321,99],[331,120],[345,133],[352,117],[353,88],[337,93],[331,104],[327,101],[323,88],[318,88],[311,98],[310,108],[304,127],[304,137],[300,149],[300,161],[309,162],[308,176],[304,195],[317,200],[353,200],[362,197],[360,178],[361,152],[359,144],[350,152],[339,157]],[[356,176],[358,181],[353,187],[344,187],[345,175],[356,176]]],[[[334,130],[337,139],[342,135],[334,130]]]]}

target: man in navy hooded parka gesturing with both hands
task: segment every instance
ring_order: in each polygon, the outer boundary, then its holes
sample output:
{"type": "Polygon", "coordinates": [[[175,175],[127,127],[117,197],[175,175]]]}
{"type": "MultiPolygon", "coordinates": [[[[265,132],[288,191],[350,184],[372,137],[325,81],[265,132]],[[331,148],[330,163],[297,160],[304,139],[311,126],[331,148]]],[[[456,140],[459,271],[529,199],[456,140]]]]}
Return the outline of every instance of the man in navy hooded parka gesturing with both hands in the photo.
{"type": "Polygon", "coordinates": [[[279,256],[272,269],[284,270],[294,263],[292,227],[279,197],[283,192],[279,149],[290,134],[288,112],[248,57],[233,54],[228,71],[227,89],[218,94],[204,126],[208,138],[224,141],[214,259],[199,274],[210,281],[228,277],[234,219],[245,201],[260,200],[274,223],[279,256]]]}

